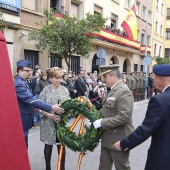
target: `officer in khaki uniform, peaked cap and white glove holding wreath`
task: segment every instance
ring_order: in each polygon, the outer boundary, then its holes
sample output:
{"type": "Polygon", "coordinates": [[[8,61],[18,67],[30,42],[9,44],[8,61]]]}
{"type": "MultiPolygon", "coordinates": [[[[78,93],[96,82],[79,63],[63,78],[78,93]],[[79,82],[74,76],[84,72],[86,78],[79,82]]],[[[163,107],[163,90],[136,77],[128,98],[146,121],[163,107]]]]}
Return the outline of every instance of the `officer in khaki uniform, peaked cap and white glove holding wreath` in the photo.
{"type": "Polygon", "coordinates": [[[116,151],[112,145],[117,139],[123,139],[134,130],[133,94],[121,81],[119,65],[104,65],[99,66],[99,69],[106,86],[111,88],[103,99],[100,110],[103,118],[93,122],[96,129],[103,129],[99,170],[112,169],[113,162],[116,170],[130,170],[129,152],[116,151]]]}

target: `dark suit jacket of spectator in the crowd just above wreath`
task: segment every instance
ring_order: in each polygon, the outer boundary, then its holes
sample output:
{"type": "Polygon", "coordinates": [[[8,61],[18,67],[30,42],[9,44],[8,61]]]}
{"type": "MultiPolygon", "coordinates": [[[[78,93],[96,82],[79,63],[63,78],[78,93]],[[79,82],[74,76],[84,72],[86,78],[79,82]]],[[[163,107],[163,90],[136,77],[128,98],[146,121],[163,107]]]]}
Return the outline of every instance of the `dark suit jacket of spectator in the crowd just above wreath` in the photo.
{"type": "Polygon", "coordinates": [[[81,79],[80,77],[78,77],[75,81],[75,86],[76,86],[76,89],[77,89],[76,97],[84,96],[85,92],[87,91],[86,83],[84,82],[84,80],[81,79]]]}

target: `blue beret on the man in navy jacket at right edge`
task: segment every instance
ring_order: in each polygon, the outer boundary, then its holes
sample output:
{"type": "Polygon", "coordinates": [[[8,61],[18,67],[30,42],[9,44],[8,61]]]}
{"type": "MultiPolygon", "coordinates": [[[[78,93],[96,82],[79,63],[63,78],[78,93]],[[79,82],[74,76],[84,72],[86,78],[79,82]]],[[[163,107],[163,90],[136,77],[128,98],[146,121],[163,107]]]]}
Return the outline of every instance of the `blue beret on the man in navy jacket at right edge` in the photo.
{"type": "Polygon", "coordinates": [[[154,66],[153,73],[160,76],[170,76],[170,64],[154,66]]]}

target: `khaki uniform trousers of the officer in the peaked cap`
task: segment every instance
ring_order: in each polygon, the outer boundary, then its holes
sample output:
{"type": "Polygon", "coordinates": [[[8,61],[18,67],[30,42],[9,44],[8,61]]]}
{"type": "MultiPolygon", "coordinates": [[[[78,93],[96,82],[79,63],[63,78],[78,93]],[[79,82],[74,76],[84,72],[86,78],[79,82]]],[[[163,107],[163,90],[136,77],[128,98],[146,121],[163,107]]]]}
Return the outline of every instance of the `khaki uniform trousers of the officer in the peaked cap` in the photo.
{"type": "Polygon", "coordinates": [[[113,163],[116,170],[130,170],[129,151],[120,152],[101,146],[99,170],[112,170],[113,163]]]}

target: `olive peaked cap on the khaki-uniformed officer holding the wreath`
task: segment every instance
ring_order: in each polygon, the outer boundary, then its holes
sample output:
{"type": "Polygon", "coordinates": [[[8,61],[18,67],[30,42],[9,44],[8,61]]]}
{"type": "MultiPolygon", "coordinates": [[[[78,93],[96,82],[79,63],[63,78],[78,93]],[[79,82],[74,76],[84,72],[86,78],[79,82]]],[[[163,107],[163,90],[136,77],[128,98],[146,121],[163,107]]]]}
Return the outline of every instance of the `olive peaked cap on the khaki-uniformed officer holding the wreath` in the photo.
{"type": "Polygon", "coordinates": [[[99,66],[99,70],[101,72],[101,75],[107,74],[111,71],[115,71],[119,69],[119,64],[112,64],[112,65],[101,65],[99,66]]]}

